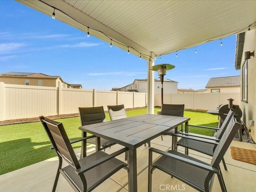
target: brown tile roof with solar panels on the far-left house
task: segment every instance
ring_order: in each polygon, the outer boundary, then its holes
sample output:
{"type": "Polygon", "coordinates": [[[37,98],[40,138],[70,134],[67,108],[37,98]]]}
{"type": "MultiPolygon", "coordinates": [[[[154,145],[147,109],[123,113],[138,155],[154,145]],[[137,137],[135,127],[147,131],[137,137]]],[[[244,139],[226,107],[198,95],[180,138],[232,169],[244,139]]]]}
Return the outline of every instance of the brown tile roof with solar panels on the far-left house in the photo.
{"type": "Polygon", "coordinates": [[[60,78],[60,76],[50,76],[42,73],[25,73],[25,72],[6,72],[6,73],[1,73],[0,76],[5,76],[5,77],[26,77],[26,78],[51,78],[51,79],[56,79],[60,78]]]}

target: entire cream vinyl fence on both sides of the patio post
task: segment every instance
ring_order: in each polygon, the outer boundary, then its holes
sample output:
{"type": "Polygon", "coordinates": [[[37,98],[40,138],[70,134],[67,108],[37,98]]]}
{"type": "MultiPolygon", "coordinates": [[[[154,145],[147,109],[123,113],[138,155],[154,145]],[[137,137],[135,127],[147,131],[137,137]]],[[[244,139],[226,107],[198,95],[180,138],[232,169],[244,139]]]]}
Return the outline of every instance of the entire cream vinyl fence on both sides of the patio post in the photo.
{"type": "MultiPolygon", "coordinates": [[[[240,93],[164,94],[166,104],[185,104],[186,109],[209,110],[220,104],[240,105],[240,93]]],[[[0,82],[0,121],[38,116],[78,113],[78,107],[124,104],[125,108],[147,106],[147,94],[119,91],[55,88],[4,84],[0,82]]],[[[161,106],[155,94],[154,105],[161,106]]]]}

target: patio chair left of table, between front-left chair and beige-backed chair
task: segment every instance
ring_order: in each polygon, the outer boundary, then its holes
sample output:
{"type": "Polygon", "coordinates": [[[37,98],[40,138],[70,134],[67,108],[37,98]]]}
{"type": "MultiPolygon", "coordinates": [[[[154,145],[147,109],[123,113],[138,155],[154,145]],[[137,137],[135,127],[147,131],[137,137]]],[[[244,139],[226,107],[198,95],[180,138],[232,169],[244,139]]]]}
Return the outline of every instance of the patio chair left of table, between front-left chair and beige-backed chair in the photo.
{"type": "MultiPolygon", "coordinates": [[[[103,106],[100,106],[100,107],[78,107],[78,110],[79,110],[82,126],[106,121],[106,116],[105,116],[103,106]]],[[[82,134],[84,137],[87,136],[86,132],[83,132],[82,134]]],[[[86,142],[96,145],[95,138],[88,139],[88,140],[86,140],[86,142]]],[[[114,144],[115,144],[114,142],[110,142],[109,140],[100,138],[101,150],[105,151],[106,148],[108,148],[114,144]]]]}

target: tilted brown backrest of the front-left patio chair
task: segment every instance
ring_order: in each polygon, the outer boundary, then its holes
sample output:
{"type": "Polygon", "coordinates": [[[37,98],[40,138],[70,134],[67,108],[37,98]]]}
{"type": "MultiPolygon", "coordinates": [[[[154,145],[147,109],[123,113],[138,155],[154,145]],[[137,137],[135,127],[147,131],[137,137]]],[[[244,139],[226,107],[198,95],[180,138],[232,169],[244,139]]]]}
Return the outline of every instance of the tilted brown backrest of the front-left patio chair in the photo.
{"type": "Polygon", "coordinates": [[[39,118],[59,158],[64,159],[76,169],[80,168],[80,164],[78,163],[76,154],[70,144],[62,123],[50,120],[44,116],[40,116],[39,118]]]}

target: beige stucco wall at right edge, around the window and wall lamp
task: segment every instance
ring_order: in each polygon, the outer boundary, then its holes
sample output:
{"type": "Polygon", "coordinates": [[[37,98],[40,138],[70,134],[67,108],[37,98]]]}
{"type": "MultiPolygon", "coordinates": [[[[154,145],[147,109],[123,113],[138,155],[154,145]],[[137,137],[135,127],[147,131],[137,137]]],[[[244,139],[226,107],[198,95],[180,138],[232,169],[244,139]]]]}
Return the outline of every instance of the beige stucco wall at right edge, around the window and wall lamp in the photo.
{"type": "MultiPolygon", "coordinates": [[[[242,75],[242,66],[244,62],[244,52],[254,51],[254,57],[250,57],[247,60],[248,62],[248,99],[247,102],[241,101],[241,109],[243,112],[242,119],[245,122],[247,128],[249,128],[249,120],[254,120],[254,124],[256,124],[256,30],[250,30],[245,33],[244,36],[244,48],[242,54],[242,62],[241,62],[241,75],[242,75]]],[[[242,77],[242,76],[241,76],[242,77]]],[[[242,85],[242,78],[241,78],[242,85]]],[[[242,86],[241,86],[241,98],[242,98],[242,86]]],[[[254,142],[256,141],[256,125],[251,127],[251,136],[254,142]]]]}

